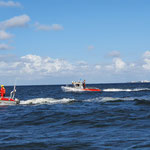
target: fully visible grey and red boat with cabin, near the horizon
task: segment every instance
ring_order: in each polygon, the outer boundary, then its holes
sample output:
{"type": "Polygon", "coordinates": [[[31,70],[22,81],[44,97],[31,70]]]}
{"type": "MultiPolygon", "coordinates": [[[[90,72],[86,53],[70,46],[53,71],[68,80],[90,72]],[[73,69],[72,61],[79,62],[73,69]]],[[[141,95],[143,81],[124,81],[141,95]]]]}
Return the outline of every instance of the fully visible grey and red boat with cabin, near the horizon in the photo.
{"type": "Polygon", "coordinates": [[[83,83],[82,82],[72,82],[72,86],[62,86],[61,87],[63,91],[65,92],[84,92],[84,91],[88,91],[88,92],[100,92],[101,90],[95,87],[83,87],[83,83]]]}

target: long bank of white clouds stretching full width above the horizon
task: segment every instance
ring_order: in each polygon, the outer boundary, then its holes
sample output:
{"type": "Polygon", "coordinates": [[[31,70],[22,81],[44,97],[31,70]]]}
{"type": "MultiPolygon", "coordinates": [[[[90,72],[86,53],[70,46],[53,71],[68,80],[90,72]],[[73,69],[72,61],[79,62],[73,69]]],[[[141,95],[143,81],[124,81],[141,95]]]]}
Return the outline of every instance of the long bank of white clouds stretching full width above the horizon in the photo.
{"type": "Polygon", "coordinates": [[[64,79],[70,78],[70,80],[76,77],[76,79],[85,78],[87,80],[91,78],[91,80],[97,80],[98,82],[114,81],[113,79],[120,82],[122,78],[128,81],[131,79],[131,76],[133,76],[134,80],[136,77],[138,79],[138,75],[142,77],[141,80],[145,80],[144,77],[147,72],[150,73],[150,56],[146,55],[149,53],[150,51],[147,51],[143,54],[144,57],[140,63],[125,62],[121,58],[113,58],[110,64],[89,64],[85,61],[73,63],[64,59],[54,59],[31,54],[22,56],[16,60],[3,59],[1,57],[0,74],[7,78],[17,76],[22,81],[42,80],[49,77],[52,80],[53,78],[61,78],[63,76],[64,79]]]}

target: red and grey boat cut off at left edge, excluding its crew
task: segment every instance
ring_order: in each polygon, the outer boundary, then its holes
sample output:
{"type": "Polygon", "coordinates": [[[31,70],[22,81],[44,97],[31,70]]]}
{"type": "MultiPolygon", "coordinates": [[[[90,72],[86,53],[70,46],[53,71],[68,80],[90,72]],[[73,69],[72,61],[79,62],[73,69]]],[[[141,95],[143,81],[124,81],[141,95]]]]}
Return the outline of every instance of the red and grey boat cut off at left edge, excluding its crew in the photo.
{"type": "Polygon", "coordinates": [[[10,97],[1,97],[0,104],[1,105],[16,105],[20,103],[20,100],[15,98],[16,88],[14,86],[14,90],[10,92],[10,97]]]}

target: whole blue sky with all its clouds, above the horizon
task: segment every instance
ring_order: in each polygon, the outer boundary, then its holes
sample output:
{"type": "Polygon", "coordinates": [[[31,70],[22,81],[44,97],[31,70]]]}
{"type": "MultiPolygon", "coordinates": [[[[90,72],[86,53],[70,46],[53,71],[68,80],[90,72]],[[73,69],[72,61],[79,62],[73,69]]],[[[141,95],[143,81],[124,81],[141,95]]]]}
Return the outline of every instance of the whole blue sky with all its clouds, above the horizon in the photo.
{"type": "Polygon", "coordinates": [[[4,85],[150,81],[149,0],[0,0],[4,85]]]}

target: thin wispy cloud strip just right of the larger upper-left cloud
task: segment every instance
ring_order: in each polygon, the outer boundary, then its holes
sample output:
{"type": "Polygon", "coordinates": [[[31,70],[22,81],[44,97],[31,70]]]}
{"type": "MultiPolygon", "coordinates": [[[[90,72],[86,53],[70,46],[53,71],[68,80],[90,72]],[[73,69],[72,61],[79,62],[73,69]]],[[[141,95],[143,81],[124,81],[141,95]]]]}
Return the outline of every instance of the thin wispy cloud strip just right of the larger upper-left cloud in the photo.
{"type": "Polygon", "coordinates": [[[35,23],[35,27],[36,27],[36,30],[43,30],[43,31],[50,31],[50,30],[58,31],[58,30],[64,29],[64,27],[62,25],[59,25],[59,24],[42,25],[38,22],[35,23]]]}

